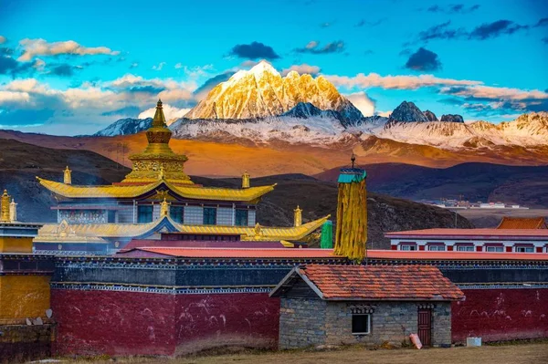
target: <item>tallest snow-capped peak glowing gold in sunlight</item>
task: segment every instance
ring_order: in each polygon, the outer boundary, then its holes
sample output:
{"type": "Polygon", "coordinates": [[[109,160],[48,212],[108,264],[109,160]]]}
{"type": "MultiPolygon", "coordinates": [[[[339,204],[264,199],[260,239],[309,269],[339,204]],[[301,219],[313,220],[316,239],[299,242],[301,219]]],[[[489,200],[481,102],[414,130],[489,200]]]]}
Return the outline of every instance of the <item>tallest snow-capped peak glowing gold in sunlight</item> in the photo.
{"type": "Polygon", "coordinates": [[[261,61],[250,70],[239,70],[221,82],[191,109],[187,119],[257,119],[279,116],[300,102],[321,110],[338,111],[342,126],[356,125],[364,116],[352,102],[342,97],[326,78],[312,78],[290,71],[284,78],[261,61]]]}

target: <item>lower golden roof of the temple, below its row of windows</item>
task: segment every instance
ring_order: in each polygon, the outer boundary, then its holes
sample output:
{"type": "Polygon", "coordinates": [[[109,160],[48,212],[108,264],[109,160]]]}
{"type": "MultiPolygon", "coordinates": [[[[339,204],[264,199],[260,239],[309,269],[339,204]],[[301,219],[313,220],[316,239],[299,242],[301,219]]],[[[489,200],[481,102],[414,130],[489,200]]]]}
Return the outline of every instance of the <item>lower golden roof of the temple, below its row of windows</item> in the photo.
{"type": "Polygon", "coordinates": [[[175,223],[169,216],[147,224],[45,224],[38,230],[35,242],[72,241],[82,238],[138,237],[153,233],[159,225],[170,223],[177,232],[186,234],[239,234],[245,241],[300,240],[321,227],[329,215],[300,226],[226,226],[187,225],[175,223]],[[167,221],[166,221],[167,220],[167,221]]]}

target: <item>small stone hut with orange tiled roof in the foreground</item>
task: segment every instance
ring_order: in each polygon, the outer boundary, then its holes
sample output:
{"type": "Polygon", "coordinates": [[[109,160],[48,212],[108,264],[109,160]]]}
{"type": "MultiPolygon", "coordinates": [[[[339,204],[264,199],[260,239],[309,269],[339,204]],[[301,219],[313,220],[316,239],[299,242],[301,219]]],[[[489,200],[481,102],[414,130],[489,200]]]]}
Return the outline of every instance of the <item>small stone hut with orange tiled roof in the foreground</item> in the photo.
{"type": "Polygon", "coordinates": [[[462,291],[435,266],[295,267],[270,296],[280,297],[279,348],[364,343],[451,344],[451,301],[462,291]]]}

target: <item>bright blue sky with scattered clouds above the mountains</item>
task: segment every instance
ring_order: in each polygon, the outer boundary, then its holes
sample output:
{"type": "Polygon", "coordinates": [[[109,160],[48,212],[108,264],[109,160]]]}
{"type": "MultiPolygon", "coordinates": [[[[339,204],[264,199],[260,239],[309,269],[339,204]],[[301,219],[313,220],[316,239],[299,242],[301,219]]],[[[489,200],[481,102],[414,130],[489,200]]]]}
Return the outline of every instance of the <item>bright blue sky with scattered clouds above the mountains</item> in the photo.
{"type": "Polygon", "coordinates": [[[3,129],[89,133],[158,96],[179,116],[208,79],[264,58],[324,75],[369,114],[548,109],[543,0],[0,0],[0,42],[3,129]]]}

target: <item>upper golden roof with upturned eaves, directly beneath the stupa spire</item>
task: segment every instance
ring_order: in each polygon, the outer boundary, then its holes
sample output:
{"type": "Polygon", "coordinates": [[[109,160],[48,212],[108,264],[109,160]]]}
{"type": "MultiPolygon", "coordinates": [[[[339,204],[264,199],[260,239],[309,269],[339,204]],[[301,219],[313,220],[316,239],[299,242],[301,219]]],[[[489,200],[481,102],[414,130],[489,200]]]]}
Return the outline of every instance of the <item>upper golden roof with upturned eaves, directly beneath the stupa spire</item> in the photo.
{"type": "Polygon", "coordinates": [[[44,180],[37,177],[47,190],[68,198],[134,198],[159,188],[162,184],[183,198],[214,201],[253,202],[263,194],[274,190],[276,184],[269,186],[249,187],[246,189],[229,189],[216,187],[198,187],[194,185],[176,185],[164,180],[142,185],[100,185],[78,186],[61,182],[44,180]]]}

